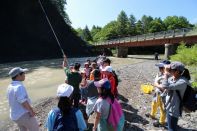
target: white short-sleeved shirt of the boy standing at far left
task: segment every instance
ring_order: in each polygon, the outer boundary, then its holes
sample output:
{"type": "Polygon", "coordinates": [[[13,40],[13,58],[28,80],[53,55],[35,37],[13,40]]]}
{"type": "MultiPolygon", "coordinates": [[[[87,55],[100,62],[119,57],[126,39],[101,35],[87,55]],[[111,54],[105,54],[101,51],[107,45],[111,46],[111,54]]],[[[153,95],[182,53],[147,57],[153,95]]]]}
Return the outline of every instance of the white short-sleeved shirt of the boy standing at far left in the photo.
{"type": "Polygon", "coordinates": [[[18,120],[23,114],[28,112],[28,110],[22,106],[22,103],[28,101],[29,104],[31,104],[31,101],[22,82],[11,82],[7,89],[7,98],[10,106],[11,120],[18,120]]]}

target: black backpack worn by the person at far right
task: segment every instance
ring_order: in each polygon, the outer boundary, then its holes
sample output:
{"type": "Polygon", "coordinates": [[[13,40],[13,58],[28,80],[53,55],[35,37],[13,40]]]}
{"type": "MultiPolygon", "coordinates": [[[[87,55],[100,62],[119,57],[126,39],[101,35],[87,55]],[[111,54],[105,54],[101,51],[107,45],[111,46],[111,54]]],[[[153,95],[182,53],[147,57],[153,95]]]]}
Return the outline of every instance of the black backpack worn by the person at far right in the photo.
{"type": "Polygon", "coordinates": [[[185,93],[183,95],[183,99],[181,99],[180,92],[177,91],[177,95],[180,99],[180,112],[182,113],[182,110],[184,109],[186,112],[194,112],[197,110],[197,92],[189,85],[187,85],[187,88],[185,90],[185,93]]]}

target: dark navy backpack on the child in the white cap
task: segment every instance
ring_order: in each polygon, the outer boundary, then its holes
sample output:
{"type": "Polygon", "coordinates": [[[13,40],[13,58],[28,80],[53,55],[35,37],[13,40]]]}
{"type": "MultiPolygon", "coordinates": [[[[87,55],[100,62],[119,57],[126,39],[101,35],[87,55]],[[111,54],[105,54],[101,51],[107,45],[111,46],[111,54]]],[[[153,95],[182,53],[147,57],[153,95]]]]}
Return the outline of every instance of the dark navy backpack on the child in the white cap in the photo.
{"type": "Polygon", "coordinates": [[[77,108],[71,108],[69,114],[65,117],[62,116],[62,113],[59,108],[53,109],[56,114],[56,119],[53,127],[53,131],[78,131],[77,117],[76,112],[77,108]]]}

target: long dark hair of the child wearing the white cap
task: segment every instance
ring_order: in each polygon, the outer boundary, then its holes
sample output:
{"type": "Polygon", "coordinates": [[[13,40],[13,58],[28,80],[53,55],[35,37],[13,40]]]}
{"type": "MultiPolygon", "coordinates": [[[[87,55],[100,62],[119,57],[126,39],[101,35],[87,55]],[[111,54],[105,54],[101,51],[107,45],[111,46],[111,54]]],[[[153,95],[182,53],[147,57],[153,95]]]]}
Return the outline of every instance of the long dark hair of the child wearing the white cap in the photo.
{"type": "Polygon", "coordinates": [[[59,102],[58,102],[58,107],[59,107],[60,111],[62,112],[63,116],[66,116],[72,107],[72,103],[70,101],[70,98],[69,97],[60,97],[59,102]]]}

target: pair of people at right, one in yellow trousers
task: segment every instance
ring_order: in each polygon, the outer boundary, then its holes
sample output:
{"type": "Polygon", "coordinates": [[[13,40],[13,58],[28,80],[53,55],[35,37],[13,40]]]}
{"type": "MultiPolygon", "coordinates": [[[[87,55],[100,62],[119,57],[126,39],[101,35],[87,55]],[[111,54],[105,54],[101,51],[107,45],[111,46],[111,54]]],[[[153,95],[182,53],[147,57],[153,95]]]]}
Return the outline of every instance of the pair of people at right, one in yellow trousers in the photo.
{"type": "Polygon", "coordinates": [[[155,127],[166,127],[169,131],[178,130],[178,118],[181,116],[181,99],[189,85],[190,74],[181,62],[163,60],[156,64],[159,74],[154,81],[155,92],[151,104],[151,113],[147,117],[156,119],[157,109],[160,108],[160,119],[153,123],[155,127]],[[177,92],[180,92],[181,99],[177,92]],[[167,117],[167,123],[166,123],[167,117]]]}

